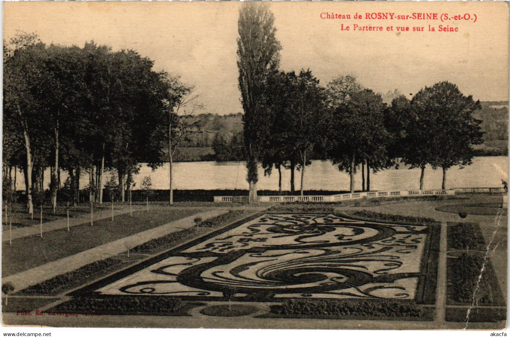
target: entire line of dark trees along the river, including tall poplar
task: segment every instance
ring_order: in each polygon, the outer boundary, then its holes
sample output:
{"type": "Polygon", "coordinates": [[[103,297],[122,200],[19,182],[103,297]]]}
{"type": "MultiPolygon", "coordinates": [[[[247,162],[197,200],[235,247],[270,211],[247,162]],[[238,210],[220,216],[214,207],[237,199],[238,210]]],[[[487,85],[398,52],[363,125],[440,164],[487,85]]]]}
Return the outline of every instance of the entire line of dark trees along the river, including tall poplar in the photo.
{"type": "MultiPolygon", "coordinates": [[[[479,102],[447,81],[411,100],[398,91],[383,99],[353,75],[324,87],[310,69],[279,70],[281,45],[268,6],[243,3],[240,9],[242,130],[230,137],[213,132],[217,159],[246,161],[250,201],[257,195],[260,163],[265,174],[278,172],[279,189],[282,170],[290,170],[292,191],[300,172],[301,193],[314,158],[329,159],[348,173],[350,191],[356,171],[363,181],[366,172],[368,190],[370,172],[400,162],[421,169],[420,188],[426,165],[441,168],[445,188],[448,168],[471,163],[473,145],[482,142],[481,121],[474,117],[479,102]]],[[[101,203],[105,171],[112,171],[124,201],[140,163],[156,168],[169,162],[171,204],[173,156],[180,145],[210,137],[205,126],[211,115],[198,114],[202,106],[193,86],[153,65],[136,51],[93,42],[83,48],[47,46],[22,33],[4,43],[4,190],[11,186],[12,168],[21,170],[32,213],[33,195],[43,192],[49,167],[54,207],[61,171],[75,201],[87,188],[90,200],[101,203]],[[89,183],[80,186],[84,174],[89,183]]]]}

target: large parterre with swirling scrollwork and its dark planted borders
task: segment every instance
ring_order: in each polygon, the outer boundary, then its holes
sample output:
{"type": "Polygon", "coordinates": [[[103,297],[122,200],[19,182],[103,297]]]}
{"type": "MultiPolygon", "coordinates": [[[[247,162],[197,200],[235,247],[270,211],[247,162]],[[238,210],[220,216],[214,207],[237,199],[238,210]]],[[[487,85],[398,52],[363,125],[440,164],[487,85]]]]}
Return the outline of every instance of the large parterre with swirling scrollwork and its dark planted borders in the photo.
{"type": "Polygon", "coordinates": [[[430,222],[254,215],[74,291],[51,311],[186,315],[185,303],[237,301],[279,303],[267,317],[430,320],[419,304],[435,303],[438,240],[430,222]]]}

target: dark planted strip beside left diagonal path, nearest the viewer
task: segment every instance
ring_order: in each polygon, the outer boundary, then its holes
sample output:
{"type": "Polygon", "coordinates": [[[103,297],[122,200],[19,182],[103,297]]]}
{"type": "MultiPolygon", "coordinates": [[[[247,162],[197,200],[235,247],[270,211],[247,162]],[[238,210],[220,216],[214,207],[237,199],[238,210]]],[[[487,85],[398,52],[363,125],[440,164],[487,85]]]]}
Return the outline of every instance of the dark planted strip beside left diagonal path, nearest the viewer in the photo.
{"type": "Polygon", "coordinates": [[[94,278],[107,275],[122,265],[122,261],[112,257],[92,262],[79,269],[57,275],[37,285],[30,286],[16,295],[57,295],[70,290],[94,278]]]}

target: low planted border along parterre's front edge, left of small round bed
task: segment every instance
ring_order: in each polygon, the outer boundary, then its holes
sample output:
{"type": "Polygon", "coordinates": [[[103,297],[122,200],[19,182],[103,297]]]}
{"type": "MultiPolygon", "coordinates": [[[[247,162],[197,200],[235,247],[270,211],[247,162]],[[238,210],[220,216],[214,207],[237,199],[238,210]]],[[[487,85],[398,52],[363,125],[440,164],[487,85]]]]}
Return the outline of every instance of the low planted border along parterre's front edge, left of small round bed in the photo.
{"type": "Polygon", "coordinates": [[[77,297],[49,310],[51,313],[172,314],[182,308],[180,299],[169,296],[77,297]]]}

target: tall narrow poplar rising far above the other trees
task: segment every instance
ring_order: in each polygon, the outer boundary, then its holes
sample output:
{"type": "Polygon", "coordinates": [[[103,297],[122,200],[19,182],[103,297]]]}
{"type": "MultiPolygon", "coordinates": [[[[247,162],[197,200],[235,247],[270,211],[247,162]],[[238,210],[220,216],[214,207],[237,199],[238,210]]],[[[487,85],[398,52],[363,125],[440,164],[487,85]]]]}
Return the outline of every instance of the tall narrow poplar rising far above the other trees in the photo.
{"type": "Polygon", "coordinates": [[[244,110],[244,143],[249,202],[257,201],[257,160],[269,140],[269,86],[278,68],[281,45],[276,40],[274,15],[268,4],[244,2],[239,11],[237,66],[244,110]]]}

